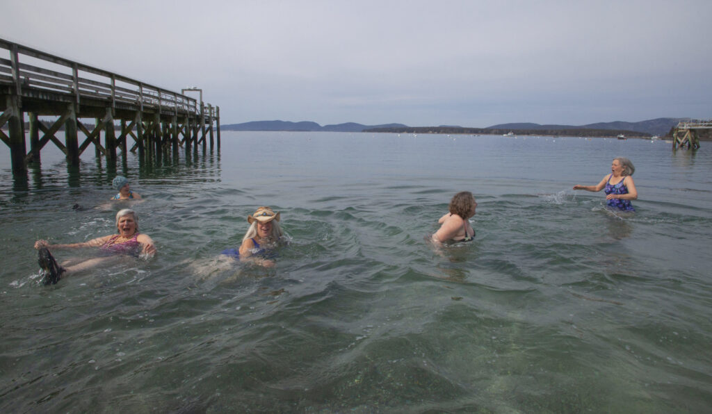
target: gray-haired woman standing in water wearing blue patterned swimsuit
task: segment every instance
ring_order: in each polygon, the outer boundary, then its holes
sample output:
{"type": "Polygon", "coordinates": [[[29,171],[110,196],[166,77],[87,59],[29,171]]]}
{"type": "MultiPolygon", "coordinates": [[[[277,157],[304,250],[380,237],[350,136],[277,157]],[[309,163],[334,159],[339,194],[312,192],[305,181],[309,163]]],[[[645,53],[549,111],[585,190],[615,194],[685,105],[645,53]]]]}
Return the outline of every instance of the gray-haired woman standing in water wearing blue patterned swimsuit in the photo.
{"type": "Polygon", "coordinates": [[[638,198],[638,191],[635,189],[635,183],[632,177],[634,172],[635,167],[633,163],[629,159],[619,156],[614,158],[611,163],[611,174],[604,176],[600,183],[595,186],[582,186],[577,184],[574,186],[574,189],[593,192],[605,189],[606,205],[609,208],[622,211],[635,211],[635,208],[633,208],[630,203],[631,200],[638,198]]]}

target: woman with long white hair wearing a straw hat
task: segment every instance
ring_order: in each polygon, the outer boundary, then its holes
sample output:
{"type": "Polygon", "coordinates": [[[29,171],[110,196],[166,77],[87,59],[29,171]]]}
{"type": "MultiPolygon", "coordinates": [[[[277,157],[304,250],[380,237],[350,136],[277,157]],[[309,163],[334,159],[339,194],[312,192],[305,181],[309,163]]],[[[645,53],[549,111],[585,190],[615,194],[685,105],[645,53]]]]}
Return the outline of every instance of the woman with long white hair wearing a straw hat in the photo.
{"type": "Polygon", "coordinates": [[[239,250],[227,249],[223,254],[239,258],[241,262],[273,267],[274,248],[283,241],[279,219],[279,213],[275,213],[271,208],[266,206],[257,208],[253,214],[247,216],[250,228],[242,238],[239,250]]]}

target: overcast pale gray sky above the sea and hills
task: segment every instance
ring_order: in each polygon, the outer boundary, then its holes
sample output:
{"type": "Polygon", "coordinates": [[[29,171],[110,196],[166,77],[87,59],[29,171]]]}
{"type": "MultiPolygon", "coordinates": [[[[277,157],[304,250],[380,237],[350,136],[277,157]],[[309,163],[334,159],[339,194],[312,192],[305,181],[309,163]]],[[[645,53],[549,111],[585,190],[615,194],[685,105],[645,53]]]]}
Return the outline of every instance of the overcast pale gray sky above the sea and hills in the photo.
{"type": "Polygon", "coordinates": [[[0,1],[0,38],[221,124],[712,118],[712,0],[0,1]]]}

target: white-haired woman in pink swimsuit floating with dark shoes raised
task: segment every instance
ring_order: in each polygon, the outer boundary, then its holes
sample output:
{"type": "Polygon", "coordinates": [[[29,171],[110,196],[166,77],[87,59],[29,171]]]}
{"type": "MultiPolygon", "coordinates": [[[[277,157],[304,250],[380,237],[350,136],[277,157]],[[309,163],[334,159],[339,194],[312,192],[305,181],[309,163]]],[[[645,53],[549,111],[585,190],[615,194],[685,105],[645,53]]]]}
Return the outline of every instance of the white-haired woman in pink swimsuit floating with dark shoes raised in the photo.
{"type": "Polygon", "coordinates": [[[55,284],[63,275],[71,272],[78,272],[95,267],[111,260],[115,260],[117,255],[130,255],[138,257],[140,254],[155,255],[156,246],[153,240],[144,233],[138,231],[138,215],[130,208],[124,208],[116,213],[117,234],[105,235],[83,243],[56,244],[51,245],[47,240],[37,240],[35,248],[39,250],[39,265],[43,272],[43,283],[45,285],[55,284]],[[82,260],[73,265],[69,262],[58,265],[50,253],[49,248],[99,248],[103,253],[102,257],[82,260]]]}

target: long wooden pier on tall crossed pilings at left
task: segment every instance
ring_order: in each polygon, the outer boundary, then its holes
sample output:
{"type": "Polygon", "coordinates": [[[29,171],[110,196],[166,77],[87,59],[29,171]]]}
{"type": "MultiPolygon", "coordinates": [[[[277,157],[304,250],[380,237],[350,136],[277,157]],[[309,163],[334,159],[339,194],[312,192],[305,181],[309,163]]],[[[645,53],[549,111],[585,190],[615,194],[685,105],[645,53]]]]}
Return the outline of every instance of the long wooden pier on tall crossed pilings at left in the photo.
{"type": "MultiPolygon", "coordinates": [[[[188,90],[197,90],[190,88],[188,90]]],[[[0,38],[0,139],[10,148],[14,174],[41,162],[49,142],[79,164],[93,144],[97,156],[115,160],[117,149],[159,159],[207,142],[220,147],[220,108],[182,93],[126,78],[0,38]],[[30,149],[27,151],[25,115],[30,149]],[[56,117],[53,122],[39,117],[56,117]],[[90,122],[82,121],[89,118],[90,122]],[[117,124],[118,122],[118,124],[117,124]],[[65,140],[55,134],[64,129],[65,140]],[[79,132],[83,142],[79,142],[79,132]],[[104,133],[104,144],[101,133],[104,133]],[[216,137],[214,136],[216,132],[216,137]],[[131,138],[130,140],[128,138],[131,138]]]]}

